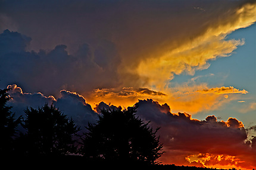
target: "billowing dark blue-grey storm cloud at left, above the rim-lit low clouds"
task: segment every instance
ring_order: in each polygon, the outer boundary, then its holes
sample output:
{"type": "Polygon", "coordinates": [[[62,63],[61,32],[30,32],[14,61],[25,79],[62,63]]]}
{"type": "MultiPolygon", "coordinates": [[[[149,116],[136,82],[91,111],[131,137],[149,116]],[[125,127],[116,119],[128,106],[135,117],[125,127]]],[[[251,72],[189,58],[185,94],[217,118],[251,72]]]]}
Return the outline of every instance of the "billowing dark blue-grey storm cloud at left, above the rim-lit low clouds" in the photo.
{"type": "Polygon", "coordinates": [[[26,91],[57,96],[61,89],[79,92],[117,85],[116,68],[112,66],[117,53],[111,42],[104,41],[95,50],[83,44],[71,55],[65,45],[38,53],[26,52],[30,41],[29,37],[9,30],[0,34],[2,88],[16,83],[26,91]],[[108,60],[105,65],[100,60],[102,55],[108,60]]]}

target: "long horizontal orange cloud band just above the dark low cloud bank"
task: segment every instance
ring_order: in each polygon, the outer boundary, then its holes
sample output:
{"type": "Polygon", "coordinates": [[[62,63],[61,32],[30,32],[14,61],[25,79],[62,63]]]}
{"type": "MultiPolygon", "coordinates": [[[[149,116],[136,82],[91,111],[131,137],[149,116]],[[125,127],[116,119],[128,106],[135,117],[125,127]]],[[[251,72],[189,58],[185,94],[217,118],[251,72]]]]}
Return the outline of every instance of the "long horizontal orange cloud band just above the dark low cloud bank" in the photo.
{"type": "Polygon", "coordinates": [[[148,88],[102,88],[86,95],[88,102],[96,106],[101,101],[129,107],[138,100],[151,98],[161,103],[166,102],[174,112],[183,111],[196,114],[199,111],[216,110],[221,105],[234,100],[233,94],[247,94],[245,89],[230,87],[207,88],[207,85],[182,86],[166,91],[154,91],[148,88]],[[230,95],[227,96],[227,94],[230,95]]]}

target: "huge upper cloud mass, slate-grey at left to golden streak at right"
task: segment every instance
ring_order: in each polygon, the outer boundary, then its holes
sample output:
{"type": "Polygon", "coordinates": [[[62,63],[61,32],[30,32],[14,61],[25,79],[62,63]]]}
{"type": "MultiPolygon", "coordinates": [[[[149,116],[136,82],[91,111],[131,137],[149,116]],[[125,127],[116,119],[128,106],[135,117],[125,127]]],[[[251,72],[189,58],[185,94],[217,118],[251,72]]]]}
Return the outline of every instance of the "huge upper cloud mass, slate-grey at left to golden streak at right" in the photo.
{"type": "Polygon", "coordinates": [[[2,14],[32,37],[25,49],[35,50],[5,56],[4,65],[15,67],[4,72],[10,79],[1,78],[2,83],[26,79],[21,83],[24,88],[31,85],[26,89],[51,95],[53,89],[56,93],[63,88],[84,95],[96,88],[164,91],[175,75],[207,69],[210,60],[230,56],[244,44],[227,35],[254,24],[256,9],[254,1],[1,3],[2,14]]]}

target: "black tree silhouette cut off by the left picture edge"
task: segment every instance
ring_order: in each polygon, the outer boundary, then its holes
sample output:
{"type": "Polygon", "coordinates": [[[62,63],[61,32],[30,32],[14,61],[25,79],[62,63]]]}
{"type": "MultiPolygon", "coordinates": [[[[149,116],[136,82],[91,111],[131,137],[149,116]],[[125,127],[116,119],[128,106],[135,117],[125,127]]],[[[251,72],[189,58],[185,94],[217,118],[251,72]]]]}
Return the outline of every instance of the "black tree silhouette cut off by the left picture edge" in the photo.
{"type": "Polygon", "coordinates": [[[11,100],[9,90],[0,89],[0,153],[4,155],[13,152],[14,136],[20,123],[20,117],[15,119],[11,107],[7,106],[7,101],[11,100]]]}

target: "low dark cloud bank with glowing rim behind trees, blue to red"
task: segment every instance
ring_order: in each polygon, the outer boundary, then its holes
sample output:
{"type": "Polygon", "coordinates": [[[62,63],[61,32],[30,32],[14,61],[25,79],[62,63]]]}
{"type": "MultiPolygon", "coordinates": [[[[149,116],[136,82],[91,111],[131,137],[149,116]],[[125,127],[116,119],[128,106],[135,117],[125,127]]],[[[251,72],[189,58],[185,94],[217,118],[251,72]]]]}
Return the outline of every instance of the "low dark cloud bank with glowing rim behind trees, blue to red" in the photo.
{"type": "MultiPolygon", "coordinates": [[[[92,107],[85,98],[76,92],[62,90],[61,97],[55,99],[41,93],[29,94],[17,85],[10,85],[9,102],[16,116],[24,114],[24,108],[42,106],[45,102],[54,103],[68,117],[72,117],[82,130],[88,123],[95,123],[101,109],[115,110],[115,105],[100,102],[92,107]]],[[[256,138],[255,127],[245,129],[236,118],[219,121],[216,116],[207,116],[205,120],[192,118],[188,113],[171,113],[168,104],[159,104],[154,100],[139,100],[135,103],[136,116],[158,131],[164,146],[160,160],[163,163],[226,168],[255,168],[256,138]]]]}

